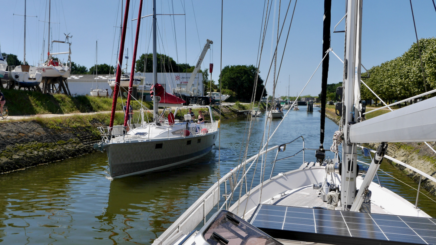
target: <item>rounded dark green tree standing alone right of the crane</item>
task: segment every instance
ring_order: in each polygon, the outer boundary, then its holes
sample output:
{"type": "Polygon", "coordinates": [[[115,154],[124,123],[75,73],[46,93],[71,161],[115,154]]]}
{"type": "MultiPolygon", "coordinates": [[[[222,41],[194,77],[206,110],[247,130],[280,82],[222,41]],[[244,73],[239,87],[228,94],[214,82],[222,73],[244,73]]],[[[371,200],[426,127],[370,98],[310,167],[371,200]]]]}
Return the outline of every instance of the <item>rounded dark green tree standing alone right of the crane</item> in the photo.
{"type": "MultiPolygon", "coordinates": [[[[254,65],[227,65],[222,69],[220,81],[223,89],[230,89],[236,93],[236,99],[241,101],[250,101],[252,98],[253,86],[256,78],[254,65]]],[[[263,80],[259,76],[256,88],[255,100],[266,96],[266,90],[263,92],[263,80]]]]}

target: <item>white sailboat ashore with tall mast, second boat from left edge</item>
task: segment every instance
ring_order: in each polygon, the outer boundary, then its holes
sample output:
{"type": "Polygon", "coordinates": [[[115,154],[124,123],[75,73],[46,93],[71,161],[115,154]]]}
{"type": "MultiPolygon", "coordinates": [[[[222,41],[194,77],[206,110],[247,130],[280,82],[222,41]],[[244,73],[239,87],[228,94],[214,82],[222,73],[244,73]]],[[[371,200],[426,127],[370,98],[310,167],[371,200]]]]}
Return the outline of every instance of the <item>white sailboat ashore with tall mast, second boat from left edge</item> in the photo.
{"type": "Polygon", "coordinates": [[[9,71],[8,74],[8,79],[15,82],[19,88],[38,86],[42,80],[41,72],[37,71],[37,69],[31,65],[26,65],[26,2],[27,1],[24,0],[24,65],[16,66],[12,71],[9,71]]]}

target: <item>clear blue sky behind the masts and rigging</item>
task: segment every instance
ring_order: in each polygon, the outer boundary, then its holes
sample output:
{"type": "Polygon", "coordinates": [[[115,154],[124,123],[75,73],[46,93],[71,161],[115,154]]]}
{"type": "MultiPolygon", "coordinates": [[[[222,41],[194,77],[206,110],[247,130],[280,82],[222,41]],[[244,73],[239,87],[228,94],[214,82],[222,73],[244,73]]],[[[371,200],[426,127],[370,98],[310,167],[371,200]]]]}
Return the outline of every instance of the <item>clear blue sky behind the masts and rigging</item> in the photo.
{"type": "MultiPolygon", "coordinates": [[[[115,63],[118,45],[119,0],[51,0],[51,21],[53,38],[65,40],[63,33],[71,33],[72,61],[91,67],[95,63],[95,41],[99,42],[98,63],[115,63]],[[57,24],[58,23],[58,24],[57,24]],[[115,38],[114,38],[115,37],[115,38]],[[114,41],[115,40],[115,41],[114,41]],[[113,51],[112,51],[113,50],[113,51]]],[[[35,65],[41,58],[43,41],[47,42],[47,27],[44,32],[44,20],[48,0],[27,0],[27,48],[26,60],[35,65]]],[[[176,61],[194,65],[198,59],[206,39],[214,41],[213,48],[206,54],[203,67],[213,62],[212,77],[218,80],[220,65],[220,34],[221,34],[221,1],[216,0],[157,0],[157,13],[174,13],[186,16],[158,17],[160,37],[158,52],[173,57],[176,61]],[[186,10],[184,10],[186,9],[186,10]],[[194,17],[195,12],[195,17],[194,17]],[[185,22],[186,18],[186,22],[185,22]],[[186,23],[186,45],[185,45],[186,23]],[[177,52],[175,45],[177,38],[177,52]],[[163,41],[162,41],[163,40],[163,41]],[[185,52],[187,55],[185,55],[185,52]],[[213,60],[211,54],[213,53],[213,60]]],[[[276,3],[278,13],[279,0],[276,3]]],[[[289,2],[282,0],[281,19],[283,20],[289,2]]],[[[143,14],[151,14],[151,0],[144,0],[143,14]]],[[[292,2],[291,7],[293,7],[292,2]]],[[[432,0],[412,0],[418,37],[435,37],[436,12],[432,0]]],[[[133,49],[132,31],[136,29],[139,0],[131,0],[129,11],[129,29],[126,38],[126,48],[129,57],[133,49]],[[133,28],[132,28],[133,26],[133,28]]],[[[24,0],[0,0],[2,13],[2,31],[0,35],[3,53],[17,54],[23,59],[23,25],[24,18],[13,14],[24,14],[24,0]]],[[[295,16],[290,37],[283,59],[282,71],[279,76],[277,92],[286,95],[288,75],[291,80],[291,95],[303,88],[322,58],[322,25],[324,1],[299,0],[296,4],[295,16]]],[[[260,24],[262,21],[263,1],[260,0],[224,0],[223,50],[222,65],[251,65],[256,63],[259,44],[260,24]]],[[[276,19],[277,19],[276,13],[276,19]]],[[[48,14],[48,13],[47,13],[48,14]]],[[[332,27],[345,14],[345,1],[333,0],[332,27]]],[[[289,26],[285,23],[285,30],[289,26]]],[[[272,21],[272,20],[271,20],[272,21]]],[[[138,57],[144,52],[151,52],[150,45],[151,18],[143,19],[141,25],[138,57]]],[[[272,50],[272,35],[276,33],[277,21],[269,25],[268,35],[262,54],[260,75],[265,80],[268,72],[272,50]]],[[[344,22],[337,30],[344,30],[344,22]]],[[[275,35],[275,34],[274,34],[275,35]]],[[[286,32],[283,33],[286,37],[286,32]]],[[[344,55],[344,34],[331,34],[331,47],[339,57],[344,55]]],[[[283,39],[284,41],[284,39],[283,39]]],[[[366,68],[379,65],[403,54],[416,41],[413,29],[412,14],[409,0],[365,0],[363,3],[362,27],[362,63],[366,68]]],[[[47,44],[45,44],[47,46],[47,44]]],[[[283,45],[281,46],[283,50],[283,45]]],[[[68,46],[54,46],[54,52],[68,51],[68,46]]],[[[45,48],[47,53],[47,48],[45,48]]],[[[45,55],[44,55],[45,57],[45,55]]],[[[67,57],[59,57],[67,59],[67,57]]],[[[129,61],[130,63],[131,61],[129,61]]],[[[126,61],[123,61],[125,64],[126,61]]],[[[130,66],[130,64],[129,64],[130,66]]],[[[125,67],[125,65],[123,65],[125,67]]],[[[130,68],[129,68],[130,69],[130,68]]],[[[330,55],[329,83],[342,80],[342,63],[330,55]]],[[[267,84],[271,92],[271,83],[267,84]]],[[[251,91],[250,91],[251,92],[251,91]]],[[[313,77],[303,94],[317,95],[320,92],[320,70],[313,77]]]]}

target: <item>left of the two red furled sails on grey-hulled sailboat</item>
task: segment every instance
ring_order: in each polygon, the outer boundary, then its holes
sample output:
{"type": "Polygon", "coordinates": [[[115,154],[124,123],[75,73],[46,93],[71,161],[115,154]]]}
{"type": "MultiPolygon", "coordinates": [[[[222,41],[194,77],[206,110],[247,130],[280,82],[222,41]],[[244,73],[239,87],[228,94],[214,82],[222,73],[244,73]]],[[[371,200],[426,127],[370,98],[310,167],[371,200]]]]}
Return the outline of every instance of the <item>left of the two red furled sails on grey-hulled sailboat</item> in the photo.
{"type": "Polygon", "coordinates": [[[116,109],[116,101],[118,99],[119,92],[119,81],[121,79],[121,64],[123,62],[123,52],[124,52],[124,41],[126,39],[126,27],[127,27],[127,17],[129,15],[129,3],[130,0],[126,0],[126,9],[124,10],[124,20],[123,20],[123,31],[121,34],[121,43],[119,47],[119,55],[118,61],[116,63],[116,77],[115,77],[115,86],[113,88],[113,100],[112,100],[112,110],[110,115],[109,128],[112,130],[113,121],[115,119],[115,109],[116,109]]]}

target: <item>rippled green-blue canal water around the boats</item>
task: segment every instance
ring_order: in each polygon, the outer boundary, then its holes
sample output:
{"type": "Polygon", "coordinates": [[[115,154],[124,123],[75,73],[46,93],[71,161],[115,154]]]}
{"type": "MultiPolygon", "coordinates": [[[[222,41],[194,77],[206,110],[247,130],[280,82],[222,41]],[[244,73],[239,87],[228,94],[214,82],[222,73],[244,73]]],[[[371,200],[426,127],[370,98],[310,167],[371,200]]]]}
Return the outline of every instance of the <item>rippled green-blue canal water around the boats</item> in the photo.
{"type": "MultiPolygon", "coordinates": [[[[266,126],[267,131],[272,133],[279,121],[273,119],[271,127],[266,126]]],[[[314,108],[314,112],[291,111],[269,146],[303,136],[306,148],[317,148],[319,124],[319,108],[314,108]]],[[[265,119],[255,118],[249,156],[258,153],[264,127],[265,119]]],[[[337,125],[326,119],[326,147],[330,147],[336,130],[337,125]]],[[[98,152],[2,174],[0,243],[150,244],[218,177],[236,166],[244,150],[244,133],[246,119],[225,120],[221,122],[221,150],[217,141],[211,152],[195,164],[165,172],[110,180],[106,153],[98,152]]],[[[286,152],[301,148],[298,140],[286,152]]],[[[300,167],[302,157],[298,154],[289,161],[278,162],[274,174],[300,167]]],[[[305,160],[314,161],[314,151],[306,151],[305,160]]],[[[415,188],[417,184],[386,162],[381,168],[387,173],[379,172],[381,184],[414,203],[416,191],[406,184],[415,188]]],[[[436,216],[435,202],[422,194],[419,207],[436,216]]]]}

